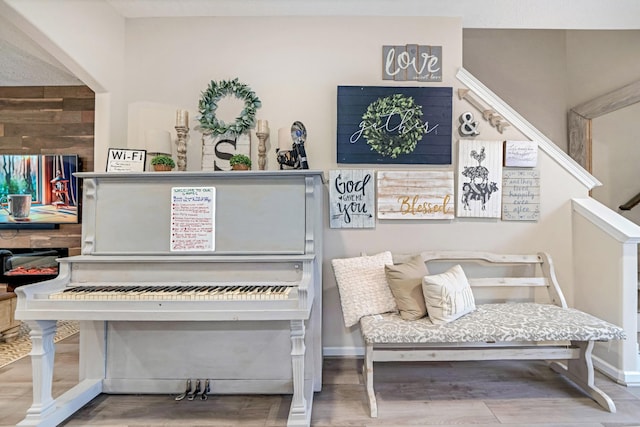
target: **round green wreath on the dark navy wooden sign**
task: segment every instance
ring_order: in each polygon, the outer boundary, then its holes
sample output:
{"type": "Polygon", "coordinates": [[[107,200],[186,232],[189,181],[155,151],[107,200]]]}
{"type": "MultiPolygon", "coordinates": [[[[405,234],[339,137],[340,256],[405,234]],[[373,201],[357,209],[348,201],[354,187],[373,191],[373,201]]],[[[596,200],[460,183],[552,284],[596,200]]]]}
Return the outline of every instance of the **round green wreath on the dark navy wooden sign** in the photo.
{"type": "Polygon", "coordinates": [[[371,150],[392,159],[403,153],[412,153],[426,131],[422,107],[413,98],[399,93],[378,98],[369,104],[362,115],[361,126],[371,150]],[[400,116],[401,125],[395,121],[390,124],[393,115],[400,116]]]}

